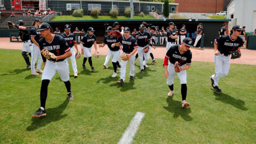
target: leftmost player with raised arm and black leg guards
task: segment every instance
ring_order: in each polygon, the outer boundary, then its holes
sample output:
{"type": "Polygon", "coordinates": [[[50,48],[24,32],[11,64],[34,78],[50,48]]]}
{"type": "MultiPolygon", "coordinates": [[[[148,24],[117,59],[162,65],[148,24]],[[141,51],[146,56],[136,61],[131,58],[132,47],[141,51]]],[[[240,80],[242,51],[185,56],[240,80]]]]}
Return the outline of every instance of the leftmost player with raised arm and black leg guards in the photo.
{"type": "Polygon", "coordinates": [[[30,68],[30,62],[29,62],[29,57],[28,55],[30,55],[31,57],[31,49],[30,49],[30,37],[29,37],[29,34],[28,34],[28,30],[27,28],[24,26],[24,22],[23,20],[18,20],[16,22],[16,25],[14,25],[13,23],[13,27],[16,27],[17,29],[19,29],[19,37],[14,37],[12,36],[12,39],[15,39],[15,38],[20,38],[21,41],[23,42],[22,44],[22,57],[24,58],[24,60],[26,61],[27,63],[27,69],[30,68]],[[27,54],[28,52],[28,54],[27,54]]]}

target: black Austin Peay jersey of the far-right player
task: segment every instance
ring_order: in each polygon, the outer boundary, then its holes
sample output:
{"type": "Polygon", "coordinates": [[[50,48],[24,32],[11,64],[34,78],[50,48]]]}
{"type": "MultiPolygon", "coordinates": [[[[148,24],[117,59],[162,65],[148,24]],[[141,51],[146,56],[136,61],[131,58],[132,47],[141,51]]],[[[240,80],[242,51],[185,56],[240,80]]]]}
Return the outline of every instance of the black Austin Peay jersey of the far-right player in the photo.
{"type": "Polygon", "coordinates": [[[241,37],[231,39],[230,35],[222,35],[216,38],[215,43],[218,44],[218,51],[225,55],[229,55],[231,51],[236,51],[238,47],[244,44],[241,37]]]}

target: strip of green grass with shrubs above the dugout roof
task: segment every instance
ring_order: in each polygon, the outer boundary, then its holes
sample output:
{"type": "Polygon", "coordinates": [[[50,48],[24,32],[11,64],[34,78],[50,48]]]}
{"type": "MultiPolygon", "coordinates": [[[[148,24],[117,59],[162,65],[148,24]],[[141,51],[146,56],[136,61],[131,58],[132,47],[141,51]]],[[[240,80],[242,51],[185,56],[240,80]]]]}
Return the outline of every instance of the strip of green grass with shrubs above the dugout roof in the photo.
{"type": "MultiPolygon", "coordinates": [[[[84,15],[83,17],[73,17],[72,15],[62,15],[56,16],[52,21],[65,21],[65,20],[120,20],[120,19],[131,19],[130,17],[118,16],[117,18],[112,18],[110,16],[99,15],[98,18],[92,17],[91,15],[84,15]]],[[[154,19],[150,15],[145,15],[144,17],[134,15],[133,19],[154,19]]]]}

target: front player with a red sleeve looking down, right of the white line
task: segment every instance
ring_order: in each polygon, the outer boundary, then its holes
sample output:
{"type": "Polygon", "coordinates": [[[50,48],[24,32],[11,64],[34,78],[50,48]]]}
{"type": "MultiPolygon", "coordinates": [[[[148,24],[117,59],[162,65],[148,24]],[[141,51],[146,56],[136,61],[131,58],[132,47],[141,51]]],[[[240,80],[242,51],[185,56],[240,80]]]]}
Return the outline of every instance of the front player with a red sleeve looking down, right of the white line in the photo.
{"type": "Polygon", "coordinates": [[[192,39],[187,37],[183,39],[181,45],[172,45],[167,51],[164,58],[164,76],[167,78],[167,85],[171,90],[167,95],[172,97],[174,94],[173,90],[173,81],[175,74],[178,75],[181,84],[181,107],[186,108],[189,106],[189,103],[186,102],[187,97],[187,69],[191,65],[192,53],[189,50],[189,47],[193,47],[192,39]],[[169,62],[168,62],[169,61],[169,62]],[[178,62],[181,68],[180,72],[175,72],[174,64],[178,62]],[[169,63],[169,64],[168,64],[169,63]]]}

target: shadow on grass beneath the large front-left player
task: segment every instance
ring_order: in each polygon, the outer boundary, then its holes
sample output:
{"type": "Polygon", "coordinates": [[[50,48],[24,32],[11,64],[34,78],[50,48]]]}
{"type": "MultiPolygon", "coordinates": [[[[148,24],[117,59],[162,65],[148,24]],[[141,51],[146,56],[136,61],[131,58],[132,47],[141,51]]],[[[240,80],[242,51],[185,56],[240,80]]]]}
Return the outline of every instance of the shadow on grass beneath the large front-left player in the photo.
{"type": "Polygon", "coordinates": [[[27,127],[27,131],[34,131],[40,127],[43,127],[51,122],[59,121],[62,118],[65,118],[67,115],[61,115],[63,111],[67,108],[69,100],[66,99],[59,107],[46,109],[46,116],[45,117],[35,117],[31,118],[31,125],[27,127]]]}

